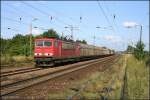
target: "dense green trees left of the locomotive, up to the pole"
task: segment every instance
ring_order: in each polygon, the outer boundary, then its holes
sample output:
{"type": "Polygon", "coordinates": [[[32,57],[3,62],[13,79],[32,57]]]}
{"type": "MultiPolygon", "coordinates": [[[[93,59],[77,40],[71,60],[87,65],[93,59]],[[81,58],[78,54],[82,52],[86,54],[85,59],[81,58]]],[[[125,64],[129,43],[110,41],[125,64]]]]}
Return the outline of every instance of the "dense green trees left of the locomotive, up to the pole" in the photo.
{"type": "MultiPolygon", "coordinates": [[[[17,34],[12,39],[1,38],[1,55],[29,55],[29,39],[30,36],[17,34]]],[[[32,36],[33,39],[33,36],[32,36]]]]}

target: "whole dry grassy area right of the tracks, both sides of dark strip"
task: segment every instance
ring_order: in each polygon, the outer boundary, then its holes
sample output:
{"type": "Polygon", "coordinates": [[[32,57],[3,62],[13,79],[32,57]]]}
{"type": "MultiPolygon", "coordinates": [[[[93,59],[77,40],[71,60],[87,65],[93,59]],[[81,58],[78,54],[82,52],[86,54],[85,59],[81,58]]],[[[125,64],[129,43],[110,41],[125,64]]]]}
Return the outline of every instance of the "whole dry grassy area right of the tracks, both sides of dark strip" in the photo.
{"type": "Polygon", "coordinates": [[[149,72],[145,61],[139,62],[132,55],[125,55],[104,72],[97,71],[86,79],[67,86],[64,91],[51,93],[50,99],[120,99],[123,93],[125,68],[127,68],[126,99],[148,99],[149,72]]]}

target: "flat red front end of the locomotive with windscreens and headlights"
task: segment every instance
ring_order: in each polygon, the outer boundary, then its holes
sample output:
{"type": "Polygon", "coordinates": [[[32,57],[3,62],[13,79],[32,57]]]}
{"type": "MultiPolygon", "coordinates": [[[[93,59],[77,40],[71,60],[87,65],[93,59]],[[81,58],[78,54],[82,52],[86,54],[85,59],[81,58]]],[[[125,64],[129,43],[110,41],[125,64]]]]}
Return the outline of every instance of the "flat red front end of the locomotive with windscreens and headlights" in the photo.
{"type": "Polygon", "coordinates": [[[53,40],[52,39],[36,39],[34,48],[34,59],[37,66],[53,65],[53,40]]]}

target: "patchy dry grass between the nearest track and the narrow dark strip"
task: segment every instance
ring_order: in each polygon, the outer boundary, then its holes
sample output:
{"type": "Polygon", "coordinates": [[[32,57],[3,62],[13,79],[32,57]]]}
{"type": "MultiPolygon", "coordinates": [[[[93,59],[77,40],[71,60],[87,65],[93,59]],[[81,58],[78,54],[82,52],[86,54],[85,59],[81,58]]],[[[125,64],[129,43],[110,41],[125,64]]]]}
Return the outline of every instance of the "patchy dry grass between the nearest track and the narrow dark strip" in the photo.
{"type": "Polygon", "coordinates": [[[49,99],[66,99],[72,96],[78,99],[120,99],[124,65],[124,58],[121,57],[113,66],[105,71],[97,70],[97,72],[87,78],[72,82],[63,91],[50,93],[49,99]]]}

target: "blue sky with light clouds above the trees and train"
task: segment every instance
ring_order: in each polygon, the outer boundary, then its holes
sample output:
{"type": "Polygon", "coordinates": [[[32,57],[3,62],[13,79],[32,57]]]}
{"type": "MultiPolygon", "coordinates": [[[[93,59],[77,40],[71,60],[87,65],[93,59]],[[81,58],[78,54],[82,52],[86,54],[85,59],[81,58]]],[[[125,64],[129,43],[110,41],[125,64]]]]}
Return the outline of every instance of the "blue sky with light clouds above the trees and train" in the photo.
{"type": "Polygon", "coordinates": [[[1,2],[1,37],[12,38],[17,33],[29,34],[31,22],[33,35],[42,33],[44,30],[41,28],[53,28],[60,35],[63,32],[69,36],[70,29],[64,27],[73,25],[77,27],[77,30],[73,31],[74,40],[85,39],[89,44],[93,44],[95,35],[97,46],[115,50],[124,50],[128,44],[134,45],[139,40],[140,27],[129,29],[123,25],[125,22],[132,22],[143,26],[142,40],[148,50],[148,1],[1,2]],[[37,20],[32,21],[34,18],[37,20]],[[34,28],[35,26],[39,28],[34,28]],[[97,26],[102,28],[96,28],[97,26]]]}

